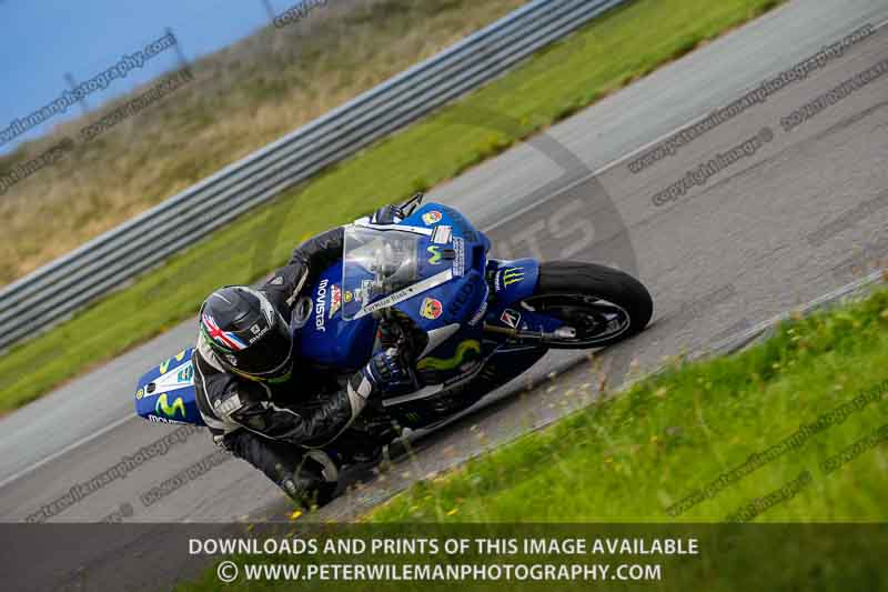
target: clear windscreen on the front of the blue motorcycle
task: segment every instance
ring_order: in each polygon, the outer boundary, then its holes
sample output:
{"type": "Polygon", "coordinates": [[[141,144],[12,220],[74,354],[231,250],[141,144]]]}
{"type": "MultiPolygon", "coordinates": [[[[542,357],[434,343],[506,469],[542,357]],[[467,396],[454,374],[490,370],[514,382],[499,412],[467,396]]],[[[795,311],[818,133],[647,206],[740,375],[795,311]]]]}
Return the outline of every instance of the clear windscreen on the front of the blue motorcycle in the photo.
{"type": "MultiPolygon", "coordinates": [[[[401,230],[346,227],[342,258],[342,317],[350,321],[420,280],[422,237],[401,230]]],[[[394,302],[393,302],[394,303],[394,302]]]]}

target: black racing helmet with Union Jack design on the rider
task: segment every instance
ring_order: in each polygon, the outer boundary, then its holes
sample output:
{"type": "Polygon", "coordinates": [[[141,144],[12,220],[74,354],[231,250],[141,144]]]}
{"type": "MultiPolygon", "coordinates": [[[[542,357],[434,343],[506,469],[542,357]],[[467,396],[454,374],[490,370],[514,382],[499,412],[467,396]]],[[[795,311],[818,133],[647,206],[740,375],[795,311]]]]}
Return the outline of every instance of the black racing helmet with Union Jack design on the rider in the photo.
{"type": "Polygon", "coordinates": [[[293,369],[290,325],[262,292],[229,285],[204,300],[200,332],[222,367],[258,381],[283,381],[293,369]]]}

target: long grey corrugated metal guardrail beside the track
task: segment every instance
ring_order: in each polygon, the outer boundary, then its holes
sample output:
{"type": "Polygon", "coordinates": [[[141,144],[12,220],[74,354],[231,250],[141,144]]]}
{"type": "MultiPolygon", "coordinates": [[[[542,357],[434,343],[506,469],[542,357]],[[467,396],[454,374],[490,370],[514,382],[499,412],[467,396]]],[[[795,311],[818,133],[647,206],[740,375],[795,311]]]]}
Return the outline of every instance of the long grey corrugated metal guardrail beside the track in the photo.
{"type": "Polygon", "coordinates": [[[244,211],[495,78],[625,0],[534,0],[0,290],[0,348],[47,329],[244,211]]]}

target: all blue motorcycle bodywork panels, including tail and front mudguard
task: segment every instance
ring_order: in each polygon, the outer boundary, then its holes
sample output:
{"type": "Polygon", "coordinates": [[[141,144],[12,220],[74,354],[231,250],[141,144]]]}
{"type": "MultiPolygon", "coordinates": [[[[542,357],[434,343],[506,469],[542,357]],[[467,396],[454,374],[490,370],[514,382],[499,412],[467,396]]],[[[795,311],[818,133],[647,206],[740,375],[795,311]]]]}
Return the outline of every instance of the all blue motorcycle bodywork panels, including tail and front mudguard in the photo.
{"type": "MultiPolygon", "coordinates": [[[[505,380],[526,369],[516,365],[529,367],[545,353],[544,348],[526,343],[485,339],[483,329],[485,323],[507,325],[503,321],[507,311],[521,314],[522,327],[533,330],[551,331],[561,325],[519,305],[536,288],[536,261],[488,262],[487,237],[462,214],[437,203],[427,203],[402,223],[385,228],[413,232],[418,238],[418,277],[440,273],[438,268],[451,272],[447,281],[393,304],[426,333],[442,335],[417,362],[417,372],[426,383],[451,388],[485,372],[491,379],[505,380]],[[454,331],[456,323],[460,327],[454,331]]],[[[344,320],[344,307],[355,295],[343,288],[342,262],[321,273],[311,290],[309,318],[293,327],[299,355],[343,373],[366,363],[376,342],[377,320],[372,314],[344,320]]],[[[141,417],[163,423],[204,424],[194,399],[192,354],[193,348],[186,349],[140,379],[135,408],[141,417]]]]}

